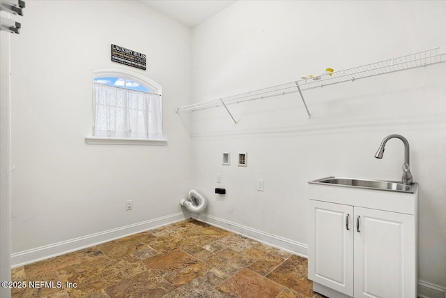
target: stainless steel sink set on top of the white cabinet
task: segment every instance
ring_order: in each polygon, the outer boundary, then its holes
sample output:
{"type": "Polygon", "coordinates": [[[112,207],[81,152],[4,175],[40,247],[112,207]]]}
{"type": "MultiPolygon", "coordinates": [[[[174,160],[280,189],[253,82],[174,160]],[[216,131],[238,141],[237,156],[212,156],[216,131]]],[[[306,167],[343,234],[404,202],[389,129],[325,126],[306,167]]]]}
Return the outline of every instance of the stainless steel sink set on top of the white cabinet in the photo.
{"type": "Polygon", "coordinates": [[[314,181],[309,181],[312,184],[330,184],[335,186],[346,186],[355,188],[375,189],[378,191],[399,191],[402,193],[415,193],[414,186],[416,184],[402,184],[397,181],[385,180],[371,180],[371,179],[356,179],[343,177],[326,177],[314,181]]]}

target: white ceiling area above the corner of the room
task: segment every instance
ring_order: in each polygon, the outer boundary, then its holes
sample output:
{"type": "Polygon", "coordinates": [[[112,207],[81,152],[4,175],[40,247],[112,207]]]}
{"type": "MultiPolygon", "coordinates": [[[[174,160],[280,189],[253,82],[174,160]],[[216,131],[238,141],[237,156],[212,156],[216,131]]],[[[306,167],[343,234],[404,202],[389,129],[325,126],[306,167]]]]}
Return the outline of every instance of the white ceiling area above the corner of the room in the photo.
{"type": "Polygon", "coordinates": [[[140,0],[154,10],[193,28],[236,0],[140,0]]]}

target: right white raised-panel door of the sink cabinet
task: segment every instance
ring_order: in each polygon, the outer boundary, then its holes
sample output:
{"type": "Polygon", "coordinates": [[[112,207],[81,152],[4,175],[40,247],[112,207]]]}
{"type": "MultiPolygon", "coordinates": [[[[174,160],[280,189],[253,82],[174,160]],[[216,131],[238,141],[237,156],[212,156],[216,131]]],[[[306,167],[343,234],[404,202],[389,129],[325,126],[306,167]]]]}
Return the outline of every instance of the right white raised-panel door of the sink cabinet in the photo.
{"type": "Polygon", "coordinates": [[[355,297],[416,297],[414,216],[355,207],[354,247],[355,297]]]}

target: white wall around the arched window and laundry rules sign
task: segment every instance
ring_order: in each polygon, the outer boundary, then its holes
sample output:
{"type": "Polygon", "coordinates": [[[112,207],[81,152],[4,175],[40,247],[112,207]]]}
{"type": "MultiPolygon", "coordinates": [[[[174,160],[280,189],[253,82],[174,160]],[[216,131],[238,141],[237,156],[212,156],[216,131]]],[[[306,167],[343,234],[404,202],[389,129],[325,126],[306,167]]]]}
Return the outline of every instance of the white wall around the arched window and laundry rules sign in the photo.
{"type": "Polygon", "coordinates": [[[11,50],[13,253],[181,212],[190,137],[174,108],[190,101],[189,28],[138,1],[27,1],[11,50]],[[112,62],[112,43],[146,54],[147,70],[112,62]],[[85,144],[102,68],[162,85],[167,146],[85,144]]]}

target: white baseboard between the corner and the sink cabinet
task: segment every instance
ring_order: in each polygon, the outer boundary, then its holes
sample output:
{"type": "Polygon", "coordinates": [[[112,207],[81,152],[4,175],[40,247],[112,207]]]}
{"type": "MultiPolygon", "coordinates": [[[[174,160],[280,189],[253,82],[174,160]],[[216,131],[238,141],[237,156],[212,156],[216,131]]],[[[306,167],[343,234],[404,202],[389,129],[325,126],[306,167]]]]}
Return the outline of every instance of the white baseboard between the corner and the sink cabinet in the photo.
{"type": "Polygon", "coordinates": [[[300,255],[303,258],[308,258],[308,246],[307,244],[301,244],[298,241],[293,241],[291,239],[286,239],[284,237],[279,237],[277,235],[269,234],[260,230],[249,228],[245,225],[240,225],[238,223],[233,223],[232,221],[226,221],[222,218],[217,218],[215,216],[206,214],[191,214],[192,218],[197,219],[197,221],[202,221],[203,223],[209,223],[210,225],[215,225],[217,227],[223,228],[224,230],[229,230],[237,234],[242,234],[245,237],[252,238],[257,241],[261,241],[270,246],[275,246],[281,248],[285,251],[290,251],[296,255],[300,255]]]}

